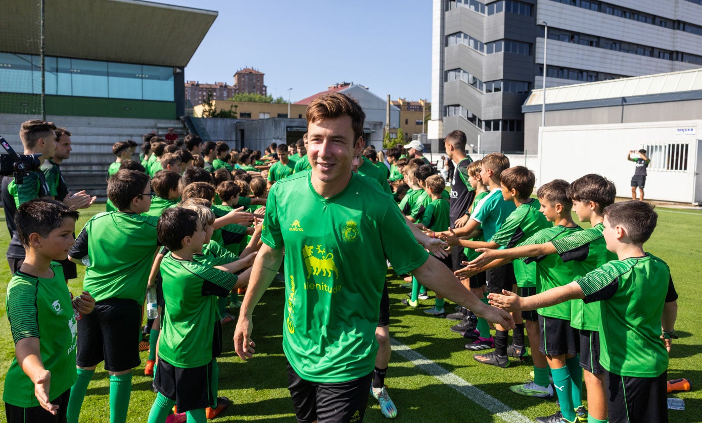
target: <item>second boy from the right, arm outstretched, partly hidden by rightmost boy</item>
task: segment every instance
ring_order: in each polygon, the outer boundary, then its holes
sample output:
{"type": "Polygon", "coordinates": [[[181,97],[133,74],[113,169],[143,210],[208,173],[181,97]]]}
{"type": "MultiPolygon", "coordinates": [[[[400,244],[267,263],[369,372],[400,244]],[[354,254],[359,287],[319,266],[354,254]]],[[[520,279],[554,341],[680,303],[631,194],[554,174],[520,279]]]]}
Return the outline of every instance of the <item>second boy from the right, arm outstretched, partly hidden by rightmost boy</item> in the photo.
{"type": "MultiPolygon", "coordinates": [[[[483,254],[470,262],[470,266],[484,266],[496,258],[515,259],[558,254],[564,262],[573,262],[574,277],[585,276],[589,271],[616,259],[616,255],[607,250],[602,236],[602,213],[605,207],[614,203],[615,194],[614,183],[600,175],[580,177],[569,185],[568,197],[573,201],[573,211],[578,220],[590,222],[592,228],[577,231],[562,239],[531,246],[524,245],[509,250],[481,249],[483,254]]],[[[580,364],[583,368],[585,387],[588,389],[590,422],[607,419],[604,368],[600,365],[599,323],[600,309],[597,308],[597,304],[571,302],[571,326],[579,331],[580,364]]],[[[571,369],[571,372],[574,370],[571,369]]],[[[557,418],[554,416],[543,417],[541,421],[548,422],[549,418],[557,418]]]]}

